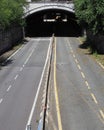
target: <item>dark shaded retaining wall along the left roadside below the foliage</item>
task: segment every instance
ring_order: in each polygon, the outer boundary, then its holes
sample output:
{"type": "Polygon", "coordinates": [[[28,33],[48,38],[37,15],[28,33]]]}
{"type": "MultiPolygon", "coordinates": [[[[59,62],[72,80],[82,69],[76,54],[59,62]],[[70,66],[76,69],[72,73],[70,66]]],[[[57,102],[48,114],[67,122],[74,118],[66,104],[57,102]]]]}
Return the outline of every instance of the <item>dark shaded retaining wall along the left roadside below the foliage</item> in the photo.
{"type": "Polygon", "coordinates": [[[12,26],[9,29],[0,29],[0,55],[12,48],[23,39],[23,31],[20,26],[12,26]]]}

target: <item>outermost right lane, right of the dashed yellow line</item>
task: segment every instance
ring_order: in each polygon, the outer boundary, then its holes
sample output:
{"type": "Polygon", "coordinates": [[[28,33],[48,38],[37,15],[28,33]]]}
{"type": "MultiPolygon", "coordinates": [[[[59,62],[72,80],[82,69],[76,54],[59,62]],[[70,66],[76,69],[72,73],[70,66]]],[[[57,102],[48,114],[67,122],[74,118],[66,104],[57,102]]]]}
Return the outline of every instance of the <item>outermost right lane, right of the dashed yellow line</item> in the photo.
{"type": "Polygon", "coordinates": [[[70,44],[73,42],[74,44],[71,44],[74,53],[77,57],[77,60],[79,61],[83,72],[85,73],[86,80],[88,80],[88,83],[90,85],[91,91],[97,95],[97,99],[99,101],[100,107],[104,108],[104,70],[97,64],[97,62],[93,58],[89,58],[89,54],[82,53],[79,51],[79,45],[77,39],[71,39],[69,40],[70,44]]]}

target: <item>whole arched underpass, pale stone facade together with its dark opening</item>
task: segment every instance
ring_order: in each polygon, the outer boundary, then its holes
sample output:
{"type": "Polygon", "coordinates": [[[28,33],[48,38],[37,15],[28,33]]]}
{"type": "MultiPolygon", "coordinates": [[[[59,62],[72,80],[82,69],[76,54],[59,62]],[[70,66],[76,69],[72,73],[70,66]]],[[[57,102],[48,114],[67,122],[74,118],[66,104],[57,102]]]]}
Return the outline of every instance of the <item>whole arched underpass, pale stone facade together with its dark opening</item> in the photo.
{"type": "Polygon", "coordinates": [[[72,4],[42,3],[30,5],[26,19],[25,35],[29,37],[80,36],[82,28],[77,24],[72,4]]]}

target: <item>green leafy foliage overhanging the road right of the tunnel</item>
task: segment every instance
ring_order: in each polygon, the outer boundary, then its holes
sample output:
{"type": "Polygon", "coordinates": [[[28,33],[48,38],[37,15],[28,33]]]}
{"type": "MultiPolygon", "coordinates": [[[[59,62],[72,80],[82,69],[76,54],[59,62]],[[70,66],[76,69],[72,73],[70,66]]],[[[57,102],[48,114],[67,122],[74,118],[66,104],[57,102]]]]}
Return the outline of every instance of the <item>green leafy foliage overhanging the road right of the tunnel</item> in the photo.
{"type": "Polygon", "coordinates": [[[74,0],[78,22],[93,35],[104,34],[104,0],[74,0]]]}

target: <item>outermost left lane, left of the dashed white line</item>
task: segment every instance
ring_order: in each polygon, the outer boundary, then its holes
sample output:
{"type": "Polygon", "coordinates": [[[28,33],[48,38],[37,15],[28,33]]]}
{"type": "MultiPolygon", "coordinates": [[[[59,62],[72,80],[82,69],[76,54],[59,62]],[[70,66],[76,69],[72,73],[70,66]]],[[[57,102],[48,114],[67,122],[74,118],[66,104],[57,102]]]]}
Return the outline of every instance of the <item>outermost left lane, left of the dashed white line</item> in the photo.
{"type": "MultiPolygon", "coordinates": [[[[37,41],[37,40],[36,40],[37,41]]],[[[19,74],[20,68],[31,53],[32,48],[36,47],[37,42],[31,40],[29,44],[24,47],[15,56],[9,59],[0,70],[0,96],[5,95],[5,90],[11,85],[13,79],[19,74]],[[9,78],[8,78],[9,77],[9,78]]]]}

